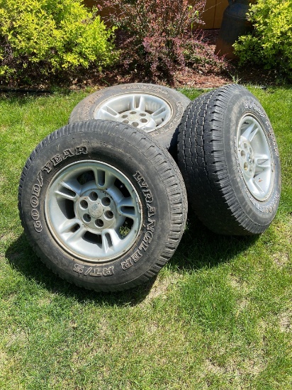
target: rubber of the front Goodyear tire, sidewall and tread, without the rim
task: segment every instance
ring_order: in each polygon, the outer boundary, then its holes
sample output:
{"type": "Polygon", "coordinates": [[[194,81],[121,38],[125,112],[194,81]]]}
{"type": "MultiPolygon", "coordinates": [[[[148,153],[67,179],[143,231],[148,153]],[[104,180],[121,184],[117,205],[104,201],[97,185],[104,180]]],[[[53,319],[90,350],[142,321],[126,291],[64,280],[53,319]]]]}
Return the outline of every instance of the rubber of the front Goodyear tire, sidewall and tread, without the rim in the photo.
{"type": "Polygon", "coordinates": [[[129,289],[157,274],[179,245],[187,214],[184,182],[167,150],[141,130],[112,121],[72,123],[41,141],[23,168],[18,208],[28,240],[47,267],[69,282],[96,291],[129,289]],[[45,196],[53,177],[82,160],[119,169],[142,202],[142,227],[135,244],[104,264],[66,252],[50,233],[45,218],[45,196]],[[96,273],[101,277],[91,276],[94,269],[99,269],[96,273]]]}

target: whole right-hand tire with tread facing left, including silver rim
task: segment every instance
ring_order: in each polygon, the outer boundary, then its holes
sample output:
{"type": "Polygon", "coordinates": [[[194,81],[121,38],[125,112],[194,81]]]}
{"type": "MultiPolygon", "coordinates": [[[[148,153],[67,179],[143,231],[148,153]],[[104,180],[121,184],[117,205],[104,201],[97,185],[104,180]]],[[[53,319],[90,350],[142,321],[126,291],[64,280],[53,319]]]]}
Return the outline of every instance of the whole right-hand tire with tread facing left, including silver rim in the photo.
{"type": "Polygon", "coordinates": [[[179,167],[189,204],[215,233],[254,235],[273,220],[279,151],[259,101],[232,84],[189,104],[179,127],[179,167]]]}

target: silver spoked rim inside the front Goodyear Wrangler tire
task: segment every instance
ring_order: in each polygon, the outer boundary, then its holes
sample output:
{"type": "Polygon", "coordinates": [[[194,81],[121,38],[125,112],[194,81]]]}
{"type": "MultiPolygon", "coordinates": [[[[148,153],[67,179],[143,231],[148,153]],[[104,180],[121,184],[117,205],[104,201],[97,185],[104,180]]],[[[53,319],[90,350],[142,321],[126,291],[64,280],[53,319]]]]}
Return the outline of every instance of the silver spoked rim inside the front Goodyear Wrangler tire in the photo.
{"type": "Polygon", "coordinates": [[[142,208],[127,177],[104,162],[68,165],[45,196],[50,232],[74,257],[105,262],[123,255],[140,232],[142,208]]]}

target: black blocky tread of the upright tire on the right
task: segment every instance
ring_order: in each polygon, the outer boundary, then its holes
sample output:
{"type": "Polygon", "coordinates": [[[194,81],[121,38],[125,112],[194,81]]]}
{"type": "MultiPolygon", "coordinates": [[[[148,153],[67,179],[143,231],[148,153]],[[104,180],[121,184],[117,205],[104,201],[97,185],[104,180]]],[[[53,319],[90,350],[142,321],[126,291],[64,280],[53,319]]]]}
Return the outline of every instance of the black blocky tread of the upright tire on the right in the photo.
{"type": "Polygon", "coordinates": [[[225,162],[225,107],[245,87],[231,84],[192,101],[179,126],[178,160],[189,203],[198,218],[215,233],[253,235],[269,225],[251,221],[232,188],[225,162]]]}

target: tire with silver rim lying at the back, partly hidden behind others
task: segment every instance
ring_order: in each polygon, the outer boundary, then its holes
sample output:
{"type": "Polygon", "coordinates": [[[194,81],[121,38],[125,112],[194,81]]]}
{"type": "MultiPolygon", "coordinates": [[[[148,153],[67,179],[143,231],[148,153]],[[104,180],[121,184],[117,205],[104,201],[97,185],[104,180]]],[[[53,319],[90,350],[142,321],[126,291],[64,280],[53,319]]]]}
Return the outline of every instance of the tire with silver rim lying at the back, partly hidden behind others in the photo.
{"type": "Polygon", "coordinates": [[[69,123],[110,119],[150,133],[176,155],[178,126],[190,100],[155,84],[120,84],[94,92],[73,109],[69,123]],[[157,113],[157,115],[154,115],[157,113]]]}

